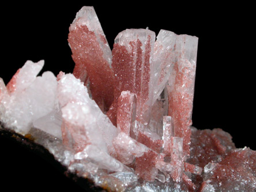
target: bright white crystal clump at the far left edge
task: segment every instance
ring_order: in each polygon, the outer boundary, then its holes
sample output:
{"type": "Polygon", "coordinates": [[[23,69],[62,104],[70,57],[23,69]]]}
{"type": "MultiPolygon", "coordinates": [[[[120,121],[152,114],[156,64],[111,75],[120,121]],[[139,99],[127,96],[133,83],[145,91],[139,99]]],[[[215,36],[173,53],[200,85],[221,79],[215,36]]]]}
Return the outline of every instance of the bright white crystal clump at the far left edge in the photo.
{"type": "Polygon", "coordinates": [[[15,89],[10,95],[6,93],[1,100],[1,122],[18,133],[28,133],[33,121],[57,106],[57,80],[54,74],[46,71],[42,77],[36,77],[42,66],[43,61],[26,62],[17,74],[15,89]]]}

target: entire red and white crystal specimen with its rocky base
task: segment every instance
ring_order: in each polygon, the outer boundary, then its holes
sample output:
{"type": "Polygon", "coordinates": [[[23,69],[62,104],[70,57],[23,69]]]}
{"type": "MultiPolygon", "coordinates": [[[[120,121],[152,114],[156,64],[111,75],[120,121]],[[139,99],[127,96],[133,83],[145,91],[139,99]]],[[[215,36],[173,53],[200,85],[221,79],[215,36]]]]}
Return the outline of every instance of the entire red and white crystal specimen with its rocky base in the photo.
{"type": "Polygon", "coordinates": [[[111,51],[93,7],[68,37],[73,74],[28,61],[5,86],[1,123],[69,171],[113,191],[254,191],[256,152],[191,127],[198,38],[126,29],[111,51]],[[156,40],[155,40],[156,39],[156,40]]]}

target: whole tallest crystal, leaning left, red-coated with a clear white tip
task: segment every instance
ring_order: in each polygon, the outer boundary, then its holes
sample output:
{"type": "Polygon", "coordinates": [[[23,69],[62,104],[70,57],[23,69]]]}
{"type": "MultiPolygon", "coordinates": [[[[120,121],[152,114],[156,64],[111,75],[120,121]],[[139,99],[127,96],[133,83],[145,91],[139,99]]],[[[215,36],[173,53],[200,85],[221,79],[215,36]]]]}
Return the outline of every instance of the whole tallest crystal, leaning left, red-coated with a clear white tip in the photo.
{"type": "Polygon", "coordinates": [[[76,63],[73,74],[82,82],[89,78],[93,99],[106,111],[114,99],[112,55],[93,7],[82,7],[69,31],[68,40],[76,63]]]}

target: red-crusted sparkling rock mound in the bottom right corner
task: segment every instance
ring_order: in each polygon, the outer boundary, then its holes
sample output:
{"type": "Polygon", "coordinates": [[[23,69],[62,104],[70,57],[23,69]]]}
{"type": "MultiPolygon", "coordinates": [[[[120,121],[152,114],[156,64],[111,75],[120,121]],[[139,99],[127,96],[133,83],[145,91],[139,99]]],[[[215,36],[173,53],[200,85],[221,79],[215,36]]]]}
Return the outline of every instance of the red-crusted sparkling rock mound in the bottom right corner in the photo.
{"type": "Polygon", "coordinates": [[[199,191],[207,191],[209,185],[216,191],[255,191],[256,152],[249,148],[232,150],[224,160],[206,172],[199,191]]]}

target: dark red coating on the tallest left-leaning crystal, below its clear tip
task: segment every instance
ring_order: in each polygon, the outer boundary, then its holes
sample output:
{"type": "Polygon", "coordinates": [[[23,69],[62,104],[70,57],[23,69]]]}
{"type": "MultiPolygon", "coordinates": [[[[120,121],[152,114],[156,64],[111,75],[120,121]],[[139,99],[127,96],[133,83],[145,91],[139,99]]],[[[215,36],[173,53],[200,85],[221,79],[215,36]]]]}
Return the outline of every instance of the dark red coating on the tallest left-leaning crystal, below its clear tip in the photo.
{"type": "MultiPolygon", "coordinates": [[[[101,40],[104,38],[101,36],[101,40]]],[[[89,77],[92,98],[101,110],[107,111],[114,99],[114,73],[110,63],[104,58],[95,32],[90,31],[86,25],[77,24],[75,30],[70,27],[68,41],[76,63],[74,76],[85,83],[87,76],[89,77]]]]}

